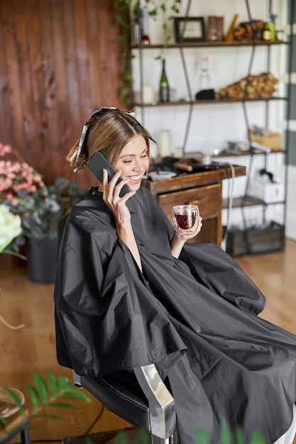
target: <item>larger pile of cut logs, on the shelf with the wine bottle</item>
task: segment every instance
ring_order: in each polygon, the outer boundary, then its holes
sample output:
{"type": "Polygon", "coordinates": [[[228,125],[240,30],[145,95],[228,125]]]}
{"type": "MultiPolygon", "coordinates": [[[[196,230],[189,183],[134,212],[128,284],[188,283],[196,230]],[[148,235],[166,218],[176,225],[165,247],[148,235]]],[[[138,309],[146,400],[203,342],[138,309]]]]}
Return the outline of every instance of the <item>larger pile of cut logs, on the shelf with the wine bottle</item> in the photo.
{"type": "Polygon", "coordinates": [[[239,82],[220,88],[216,96],[219,99],[264,99],[273,95],[276,91],[276,84],[278,84],[278,79],[270,72],[263,72],[258,75],[250,74],[248,77],[243,77],[239,82]]]}

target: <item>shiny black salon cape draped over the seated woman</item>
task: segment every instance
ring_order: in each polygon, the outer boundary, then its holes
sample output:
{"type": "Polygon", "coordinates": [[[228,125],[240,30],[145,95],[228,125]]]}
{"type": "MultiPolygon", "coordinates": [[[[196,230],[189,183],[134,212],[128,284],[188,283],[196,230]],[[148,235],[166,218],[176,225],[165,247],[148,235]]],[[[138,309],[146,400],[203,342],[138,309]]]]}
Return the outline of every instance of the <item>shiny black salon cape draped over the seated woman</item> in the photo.
{"type": "Polygon", "coordinates": [[[221,424],[285,433],[296,399],[296,337],[256,316],[265,298],[213,243],[172,257],[173,228],[141,188],[128,199],[143,274],[91,189],[60,226],[55,284],[57,359],[82,375],[155,362],[168,375],[181,444],[221,424]],[[64,228],[65,226],[65,228],[64,228]]]}

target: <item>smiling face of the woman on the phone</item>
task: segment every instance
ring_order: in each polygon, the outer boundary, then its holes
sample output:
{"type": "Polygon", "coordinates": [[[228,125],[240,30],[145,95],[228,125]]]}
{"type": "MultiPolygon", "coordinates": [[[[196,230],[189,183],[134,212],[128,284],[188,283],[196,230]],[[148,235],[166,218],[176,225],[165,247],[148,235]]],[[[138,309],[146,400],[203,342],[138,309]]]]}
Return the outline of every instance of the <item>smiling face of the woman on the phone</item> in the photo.
{"type": "Polygon", "coordinates": [[[146,140],[143,135],[136,134],[122,149],[115,170],[121,170],[121,177],[128,179],[131,191],[137,191],[141,186],[143,175],[148,170],[148,166],[149,157],[146,140]]]}

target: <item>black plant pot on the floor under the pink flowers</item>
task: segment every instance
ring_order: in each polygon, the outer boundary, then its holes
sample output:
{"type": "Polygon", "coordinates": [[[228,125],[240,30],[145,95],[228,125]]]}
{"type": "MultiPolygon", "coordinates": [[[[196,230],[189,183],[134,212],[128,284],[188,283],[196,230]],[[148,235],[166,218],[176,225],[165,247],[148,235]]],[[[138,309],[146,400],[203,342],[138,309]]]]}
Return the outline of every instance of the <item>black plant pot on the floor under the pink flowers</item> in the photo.
{"type": "Polygon", "coordinates": [[[27,243],[28,278],[33,282],[50,284],[55,282],[57,271],[57,238],[29,238],[27,243]]]}

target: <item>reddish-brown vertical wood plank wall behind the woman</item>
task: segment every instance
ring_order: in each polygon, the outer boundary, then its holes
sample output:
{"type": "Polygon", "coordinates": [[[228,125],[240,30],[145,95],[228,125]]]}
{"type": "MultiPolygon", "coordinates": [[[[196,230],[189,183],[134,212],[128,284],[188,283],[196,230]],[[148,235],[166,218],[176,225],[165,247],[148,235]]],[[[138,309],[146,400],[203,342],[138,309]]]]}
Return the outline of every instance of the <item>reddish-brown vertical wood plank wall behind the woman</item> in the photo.
{"type": "Polygon", "coordinates": [[[72,179],[65,156],[94,109],[126,109],[118,36],[110,0],[0,0],[0,140],[48,184],[72,179]]]}

